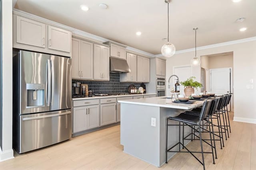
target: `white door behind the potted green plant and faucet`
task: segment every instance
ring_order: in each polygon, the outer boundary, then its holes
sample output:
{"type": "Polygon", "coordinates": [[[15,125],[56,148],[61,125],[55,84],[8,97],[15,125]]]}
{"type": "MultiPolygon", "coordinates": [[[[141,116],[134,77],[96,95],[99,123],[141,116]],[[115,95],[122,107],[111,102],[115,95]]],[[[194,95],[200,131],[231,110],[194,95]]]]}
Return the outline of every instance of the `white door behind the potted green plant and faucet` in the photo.
{"type": "MultiPolygon", "coordinates": [[[[174,67],[174,74],[179,77],[180,82],[188,79],[191,76],[191,67],[190,66],[180,66],[180,67],[174,67]]],[[[171,88],[173,87],[175,89],[175,83],[177,80],[176,77],[173,77],[173,81],[170,80],[170,82],[173,82],[171,84],[171,88]]],[[[184,94],[184,86],[180,84],[180,94],[184,94]]]]}

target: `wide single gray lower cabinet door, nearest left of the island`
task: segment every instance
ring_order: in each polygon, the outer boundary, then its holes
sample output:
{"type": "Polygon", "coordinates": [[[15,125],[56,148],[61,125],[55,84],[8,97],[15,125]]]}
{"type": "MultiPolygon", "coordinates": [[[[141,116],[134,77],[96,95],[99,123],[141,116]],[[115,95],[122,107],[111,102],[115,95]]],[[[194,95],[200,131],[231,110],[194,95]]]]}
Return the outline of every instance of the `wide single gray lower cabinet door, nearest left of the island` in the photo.
{"type": "Polygon", "coordinates": [[[116,122],[116,103],[100,105],[100,125],[116,122]]]}

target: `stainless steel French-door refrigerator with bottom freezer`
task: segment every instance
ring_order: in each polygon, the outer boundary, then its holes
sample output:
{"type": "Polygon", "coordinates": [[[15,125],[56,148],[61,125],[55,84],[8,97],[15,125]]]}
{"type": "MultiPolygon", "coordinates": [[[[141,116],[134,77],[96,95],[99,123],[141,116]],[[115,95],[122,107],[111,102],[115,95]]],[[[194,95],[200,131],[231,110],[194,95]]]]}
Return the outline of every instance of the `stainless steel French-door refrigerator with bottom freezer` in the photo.
{"type": "Polygon", "coordinates": [[[14,149],[39,149],[68,140],[71,133],[71,59],[14,50],[14,149]]]}

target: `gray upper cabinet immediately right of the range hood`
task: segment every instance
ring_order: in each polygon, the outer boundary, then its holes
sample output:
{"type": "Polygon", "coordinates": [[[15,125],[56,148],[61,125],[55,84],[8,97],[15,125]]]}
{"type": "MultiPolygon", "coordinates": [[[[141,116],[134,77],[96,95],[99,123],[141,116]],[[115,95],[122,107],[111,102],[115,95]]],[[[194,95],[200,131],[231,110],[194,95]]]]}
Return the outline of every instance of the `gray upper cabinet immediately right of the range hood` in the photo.
{"type": "Polygon", "coordinates": [[[126,53],[126,61],[131,72],[121,73],[120,82],[137,82],[137,56],[131,53],[126,53]]]}

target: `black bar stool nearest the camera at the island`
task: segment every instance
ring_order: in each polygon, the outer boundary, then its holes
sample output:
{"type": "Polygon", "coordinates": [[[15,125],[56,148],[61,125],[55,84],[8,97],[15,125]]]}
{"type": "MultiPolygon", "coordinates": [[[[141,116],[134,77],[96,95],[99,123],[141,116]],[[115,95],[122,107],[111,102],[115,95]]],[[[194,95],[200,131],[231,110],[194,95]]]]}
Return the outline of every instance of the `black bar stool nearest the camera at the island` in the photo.
{"type": "MultiPolygon", "coordinates": [[[[168,117],[166,119],[166,163],[168,163],[167,161],[167,154],[168,152],[181,152],[181,153],[190,153],[192,154],[192,156],[194,156],[194,158],[196,158],[196,160],[198,160],[198,162],[200,162],[205,170],[205,165],[204,165],[204,153],[211,153],[212,154],[212,159],[213,159],[213,164],[215,164],[214,162],[214,152],[213,152],[213,145],[212,145],[212,135],[210,134],[210,142],[211,142],[211,148],[212,148],[212,152],[204,152],[203,151],[203,145],[202,145],[202,135],[201,135],[201,122],[210,114],[211,112],[211,108],[212,108],[212,104],[213,104],[214,100],[205,100],[203,106],[202,106],[202,111],[200,112],[200,115],[195,115],[195,114],[190,114],[188,112],[184,112],[184,113],[180,113],[180,115],[176,116],[176,117],[168,117]],[[169,120],[174,120],[174,121],[178,121],[179,124],[169,124],[168,121],[169,120]],[[195,132],[199,133],[199,138],[200,138],[200,146],[201,146],[201,152],[198,151],[190,151],[188,150],[185,146],[184,146],[184,129],[183,129],[183,136],[182,136],[182,143],[180,142],[180,126],[181,123],[183,124],[182,126],[188,126],[190,128],[192,128],[195,132]],[[174,146],[170,147],[168,149],[168,126],[179,126],[179,142],[176,143],[174,146]],[[194,126],[198,126],[198,129],[194,128],[194,126]],[[179,150],[178,151],[172,151],[172,149],[174,147],[176,147],[177,145],[179,145],[179,150]],[[187,151],[181,151],[180,150],[180,146],[182,146],[182,148],[185,148],[187,151]],[[202,162],[193,154],[193,153],[201,153],[202,154],[202,162]]],[[[209,126],[209,131],[211,132],[210,126],[209,126]]],[[[205,141],[204,141],[205,142],[205,141]]]]}

